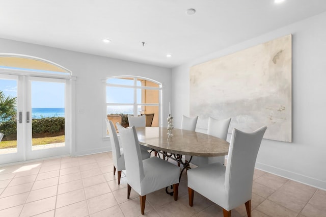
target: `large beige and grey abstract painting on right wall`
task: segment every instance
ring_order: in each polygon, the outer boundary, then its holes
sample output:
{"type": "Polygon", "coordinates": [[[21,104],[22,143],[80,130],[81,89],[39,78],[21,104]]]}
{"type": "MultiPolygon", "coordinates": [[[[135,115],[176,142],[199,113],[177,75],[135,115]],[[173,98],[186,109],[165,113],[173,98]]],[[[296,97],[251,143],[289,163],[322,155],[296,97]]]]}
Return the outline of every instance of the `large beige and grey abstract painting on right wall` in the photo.
{"type": "Polygon", "coordinates": [[[266,125],[265,139],[291,142],[292,36],[191,67],[190,113],[200,128],[231,117],[230,132],[266,125]]]}

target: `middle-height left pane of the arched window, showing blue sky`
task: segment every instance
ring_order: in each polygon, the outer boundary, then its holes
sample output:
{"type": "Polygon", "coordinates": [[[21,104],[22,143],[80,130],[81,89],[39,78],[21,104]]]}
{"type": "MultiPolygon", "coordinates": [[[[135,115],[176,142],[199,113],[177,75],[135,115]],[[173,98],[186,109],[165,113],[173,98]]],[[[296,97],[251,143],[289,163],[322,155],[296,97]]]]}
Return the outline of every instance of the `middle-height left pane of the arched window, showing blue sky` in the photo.
{"type": "Polygon", "coordinates": [[[133,103],[133,88],[106,87],[107,103],[133,103]]]}

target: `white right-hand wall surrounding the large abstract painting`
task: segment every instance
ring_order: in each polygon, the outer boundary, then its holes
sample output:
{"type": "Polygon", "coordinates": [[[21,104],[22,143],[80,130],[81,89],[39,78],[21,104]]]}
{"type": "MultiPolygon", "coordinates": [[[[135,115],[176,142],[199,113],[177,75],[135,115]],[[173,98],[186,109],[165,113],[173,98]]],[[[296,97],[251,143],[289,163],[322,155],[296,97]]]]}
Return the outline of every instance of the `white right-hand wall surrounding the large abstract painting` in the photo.
{"type": "Polygon", "coordinates": [[[175,127],[180,127],[182,114],[189,115],[191,66],[292,34],[293,142],[263,140],[256,167],[326,189],[325,23],[326,13],[322,13],[173,68],[172,105],[175,127]]]}

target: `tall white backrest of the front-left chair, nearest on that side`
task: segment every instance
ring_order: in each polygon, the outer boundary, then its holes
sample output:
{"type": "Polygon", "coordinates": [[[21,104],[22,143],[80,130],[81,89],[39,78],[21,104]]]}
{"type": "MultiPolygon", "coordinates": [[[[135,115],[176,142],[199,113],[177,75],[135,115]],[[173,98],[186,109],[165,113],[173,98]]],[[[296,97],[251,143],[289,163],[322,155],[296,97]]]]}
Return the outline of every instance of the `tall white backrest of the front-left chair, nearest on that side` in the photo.
{"type": "MultiPolygon", "coordinates": [[[[145,117],[145,116],[144,116],[145,117]]],[[[144,178],[143,159],[135,126],[124,128],[117,123],[124,150],[127,182],[136,192],[141,192],[141,180],[144,178]]]]}

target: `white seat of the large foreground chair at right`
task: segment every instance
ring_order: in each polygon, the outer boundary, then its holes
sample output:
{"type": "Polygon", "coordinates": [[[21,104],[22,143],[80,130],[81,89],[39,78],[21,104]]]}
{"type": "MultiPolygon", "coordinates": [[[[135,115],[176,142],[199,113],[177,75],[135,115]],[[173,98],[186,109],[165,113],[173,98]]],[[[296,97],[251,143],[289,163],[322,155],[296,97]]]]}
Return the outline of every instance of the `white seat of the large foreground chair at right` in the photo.
{"type": "Polygon", "coordinates": [[[225,170],[226,167],[220,163],[188,170],[188,187],[223,207],[227,202],[225,170]]]}

